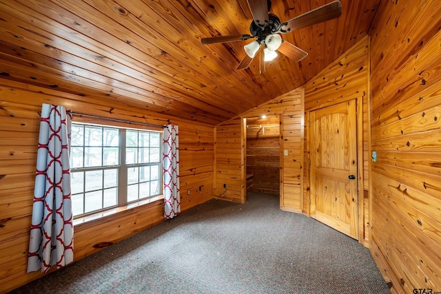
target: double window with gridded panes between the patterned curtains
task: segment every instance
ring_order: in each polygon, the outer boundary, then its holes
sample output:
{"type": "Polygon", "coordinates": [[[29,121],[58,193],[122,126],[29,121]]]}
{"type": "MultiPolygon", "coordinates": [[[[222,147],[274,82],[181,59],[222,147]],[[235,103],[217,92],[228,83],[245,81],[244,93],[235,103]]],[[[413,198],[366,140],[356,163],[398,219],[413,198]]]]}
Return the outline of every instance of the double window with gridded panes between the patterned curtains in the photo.
{"type": "Polygon", "coordinates": [[[160,132],[72,123],[74,217],[162,193],[160,132]]]}

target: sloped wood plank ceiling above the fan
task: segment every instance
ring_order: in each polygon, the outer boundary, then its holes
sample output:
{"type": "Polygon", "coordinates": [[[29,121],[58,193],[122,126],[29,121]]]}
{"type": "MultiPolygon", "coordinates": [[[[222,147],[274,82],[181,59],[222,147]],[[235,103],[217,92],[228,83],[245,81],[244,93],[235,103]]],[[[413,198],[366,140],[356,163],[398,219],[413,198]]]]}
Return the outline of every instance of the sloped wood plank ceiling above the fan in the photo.
{"type": "MultiPolygon", "coordinates": [[[[287,21],[329,2],[272,0],[270,12],[287,21]]],[[[258,58],[236,70],[252,40],[201,44],[249,34],[246,0],[0,0],[0,74],[216,125],[304,85],[365,36],[380,0],[341,2],[340,18],[283,35],[307,58],[279,54],[260,73],[258,58]]]]}

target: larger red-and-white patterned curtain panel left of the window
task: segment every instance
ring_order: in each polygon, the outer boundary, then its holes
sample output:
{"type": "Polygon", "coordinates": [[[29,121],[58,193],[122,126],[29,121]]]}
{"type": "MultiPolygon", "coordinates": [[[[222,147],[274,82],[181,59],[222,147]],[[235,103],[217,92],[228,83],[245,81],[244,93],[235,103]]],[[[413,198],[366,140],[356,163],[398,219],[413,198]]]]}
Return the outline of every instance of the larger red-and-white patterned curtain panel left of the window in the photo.
{"type": "Polygon", "coordinates": [[[28,253],[28,273],[52,265],[61,268],[74,259],[70,201],[70,127],[72,116],[62,106],[43,104],[34,206],[28,253]]]}

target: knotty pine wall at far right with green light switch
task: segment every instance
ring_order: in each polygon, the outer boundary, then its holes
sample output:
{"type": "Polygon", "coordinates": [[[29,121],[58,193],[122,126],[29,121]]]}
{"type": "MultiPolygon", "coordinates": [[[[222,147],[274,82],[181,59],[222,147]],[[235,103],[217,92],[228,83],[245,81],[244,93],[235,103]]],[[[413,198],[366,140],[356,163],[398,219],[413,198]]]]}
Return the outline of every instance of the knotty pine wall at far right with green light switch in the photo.
{"type": "Polygon", "coordinates": [[[378,156],[371,252],[393,293],[438,292],[441,2],[381,1],[378,11],[371,28],[371,147],[378,156]]]}

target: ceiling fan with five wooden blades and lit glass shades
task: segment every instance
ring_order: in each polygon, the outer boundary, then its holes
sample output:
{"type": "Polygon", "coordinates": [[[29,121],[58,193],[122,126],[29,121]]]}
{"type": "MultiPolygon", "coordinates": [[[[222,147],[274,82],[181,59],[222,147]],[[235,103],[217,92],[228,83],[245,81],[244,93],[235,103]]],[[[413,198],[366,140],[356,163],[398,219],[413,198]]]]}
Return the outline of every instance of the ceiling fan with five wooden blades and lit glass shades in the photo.
{"type": "Polygon", "coordinates": [[[204,45],[209,45],[256,38],[256,41],[252,41],[244,46],[244,50],[247,54],[245,54],[245,57],[240,61],[237,67],[238,70],[245,70],[249,66],[262,45],[264,48],[264,61],[271,61],[276,58],[276,51],[289,57],[289,59],[301,61],[308,55],[307,52],[296,47],[294,44],[284,41],[280,34],[287,34],[292,30],[305,28],[309,25],[329,21],[330,19],[336,19],[342,14],[342,3],[340,3],[339,0],[335,0],[282,23],[275,14],[269,13],[271,0],[247,0],[247,2],[253,16],[253,21],[251,25],[249,25],[250,34],[212,36],[201,39],[204,45]]]}

